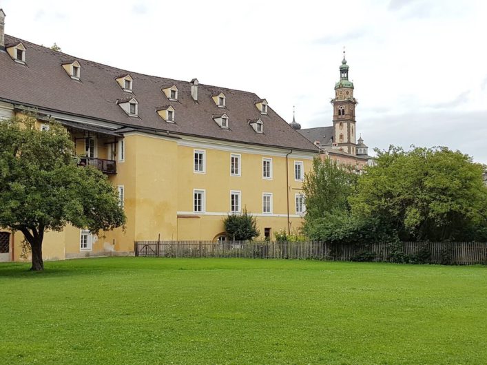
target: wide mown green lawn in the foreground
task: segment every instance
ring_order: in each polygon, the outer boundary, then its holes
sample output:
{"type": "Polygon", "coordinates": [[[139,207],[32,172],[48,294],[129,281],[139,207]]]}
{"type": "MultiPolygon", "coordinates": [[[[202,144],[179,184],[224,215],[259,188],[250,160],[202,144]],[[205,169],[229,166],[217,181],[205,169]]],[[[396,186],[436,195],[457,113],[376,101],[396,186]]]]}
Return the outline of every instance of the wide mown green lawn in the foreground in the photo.
{"type": "Polygon", "coordinates": [[[0,364],[486,364],[487,268],[0,264],[0,364]]]}

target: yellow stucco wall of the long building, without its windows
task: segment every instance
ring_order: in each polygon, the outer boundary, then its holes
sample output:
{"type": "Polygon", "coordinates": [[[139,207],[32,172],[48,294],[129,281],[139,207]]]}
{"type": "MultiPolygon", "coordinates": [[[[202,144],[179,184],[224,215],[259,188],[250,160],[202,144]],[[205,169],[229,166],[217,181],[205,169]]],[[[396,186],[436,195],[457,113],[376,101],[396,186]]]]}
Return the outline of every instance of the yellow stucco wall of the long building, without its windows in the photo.
{"type": "MultiPolygon", "coordinates": [[[[72,138],[83,136],[73,134],[72,138]]],[[[81,251],[80,229],[68,226],[59,233],[48,232],[43,244],[45,260],[130,254],[134,241],[157,240],[159,235],[161,240],[214,240],[224,231],[231,190],[241,191],[241,207],[256,215],[261,238],[265,228],[270,228],[272,235],[287,230],[288,209],[291,231],[302,225],[302,216],[295,209],[295,195],[302,191],[302,182],[294,178],[294,162],[302,161],[307,172],[315,156],[312,153],[294,152],[286,158],[290,152],[286,149],[131,132],[125,135],[125,159],[121,162],[116,156],[118,146],[115,156],[108,153],[107,143],[112,139],[96,136],[96,156],[116,159],[117,174],[108,177],[115,187],[123,186],[125,230],[103,232],[94,240],[91,251],[81,251]],[[194,149],[205,151],[205,174],[194,173],[194,149]],[[231,154],[240,155],[240,176],[230,174],[231,154]],[[271,179],[262,178],[262,158],[272,159],[271,179]],[[205,213],[193,212],[194,189],[206,191],[205,213]],[[271,214],[262,213],[263,193],[273,194],[271,214]]],[[[76,140],[76,152],[85,154],[83,139],[76,140]]],[[[14,260],[23,260],[22,234],[16,233],[14,240],[14,260]]]]}

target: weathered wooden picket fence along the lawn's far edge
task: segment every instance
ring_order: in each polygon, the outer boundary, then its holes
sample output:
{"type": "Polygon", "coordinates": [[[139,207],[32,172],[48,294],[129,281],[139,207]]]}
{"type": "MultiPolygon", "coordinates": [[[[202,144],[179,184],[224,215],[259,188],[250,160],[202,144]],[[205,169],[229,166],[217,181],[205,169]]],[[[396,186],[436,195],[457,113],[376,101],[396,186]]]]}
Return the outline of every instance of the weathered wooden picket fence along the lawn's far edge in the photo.
{"type": "Polygon", "coordinates": [[[487,242],[138,241],[136,256],[165,258],[284,258],[332,261],[487,264],[487,242]]]}

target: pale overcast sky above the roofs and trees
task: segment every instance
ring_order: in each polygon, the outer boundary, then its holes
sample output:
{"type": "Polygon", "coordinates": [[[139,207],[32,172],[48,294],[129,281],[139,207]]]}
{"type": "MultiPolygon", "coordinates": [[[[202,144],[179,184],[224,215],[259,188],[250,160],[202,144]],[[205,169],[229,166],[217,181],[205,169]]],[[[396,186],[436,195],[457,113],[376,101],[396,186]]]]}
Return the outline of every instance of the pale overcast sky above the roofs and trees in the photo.
{"type": "MultiPolygon", "coordinates": [[[[255,92],[331,125],[346,46],[370,147],[444,145],[487,163],[487,1],[0,0],[6,33],[126,70],[255,92]]],[[[1,72],[1,70],[0,70],[1,72]]]]}

